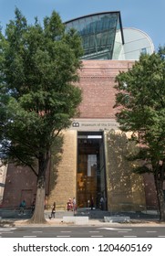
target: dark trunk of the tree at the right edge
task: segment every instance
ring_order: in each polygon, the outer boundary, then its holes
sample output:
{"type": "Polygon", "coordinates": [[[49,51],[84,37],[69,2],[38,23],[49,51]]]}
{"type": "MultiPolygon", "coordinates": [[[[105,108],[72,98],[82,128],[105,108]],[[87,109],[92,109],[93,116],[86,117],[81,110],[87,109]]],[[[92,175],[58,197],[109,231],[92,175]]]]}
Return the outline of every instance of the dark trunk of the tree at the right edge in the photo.
{"type": "Polygon", "coordinates": [[[165,202],[164,202],[164,193],[163,193],[163,179],[160,176],[155,175],[155,185],[157,190],[159,211],[160,211],[160,221],[165,221],[165,202]]]}

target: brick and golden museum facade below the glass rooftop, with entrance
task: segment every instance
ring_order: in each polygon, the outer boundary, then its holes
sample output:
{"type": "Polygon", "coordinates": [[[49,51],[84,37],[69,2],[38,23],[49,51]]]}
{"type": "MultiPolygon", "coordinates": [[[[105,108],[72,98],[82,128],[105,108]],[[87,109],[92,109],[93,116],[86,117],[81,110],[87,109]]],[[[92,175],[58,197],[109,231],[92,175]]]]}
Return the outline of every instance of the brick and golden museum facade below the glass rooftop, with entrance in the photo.
{"type": "MultiPolygon", "coordinates": [[[[157,204],[152,177],[132,174],[131,164],[124,156],[134,149],[127,144],[129,134],[120,133],[115,121],[115,77],[119,71],[127,71],[133,63],[128,60],[83,60],[77,84],[83,95],[80,114],[64,132],[56,186],[52,186],[55,183],[52,165],[47,168],[47,206],[56,201],[57,207],[64,208],[69,197],[77,197],[79,207],[88,207],[94,197],[98,207],[101,196],[106,198],[105,208],[111,211],[141,210],[157,204]],[[85,148],[88,148],[86,154],[82,151],[85,148]],[[89,164],[89,160],[93,164],[89,164]],[[81,165],[83,168],[87,166],[88,170],[83,170],[81,165]]],[[[33,172],[9,165],[3,206],[18,206],[23,198],[30,206],[34,197],[36,176],[33,172]]]]}

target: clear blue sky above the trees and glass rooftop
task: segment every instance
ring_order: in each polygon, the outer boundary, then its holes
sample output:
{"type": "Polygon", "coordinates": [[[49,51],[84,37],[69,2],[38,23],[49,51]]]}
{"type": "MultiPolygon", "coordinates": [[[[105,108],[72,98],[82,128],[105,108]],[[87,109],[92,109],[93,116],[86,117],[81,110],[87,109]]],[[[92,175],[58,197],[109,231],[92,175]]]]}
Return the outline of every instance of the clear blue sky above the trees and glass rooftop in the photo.
{"type": "Polygon", "coordinates": [[[120,11],[122,26],[134,27],[147,33],[155,47],[165,45],[165,0],[0,0],[0,25],[5,26],[15,17],[15,7],[28,24],[35,17],[43,23],[45,16],[57,11],[63,22],[99,12],[120,11]]]}

